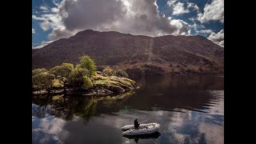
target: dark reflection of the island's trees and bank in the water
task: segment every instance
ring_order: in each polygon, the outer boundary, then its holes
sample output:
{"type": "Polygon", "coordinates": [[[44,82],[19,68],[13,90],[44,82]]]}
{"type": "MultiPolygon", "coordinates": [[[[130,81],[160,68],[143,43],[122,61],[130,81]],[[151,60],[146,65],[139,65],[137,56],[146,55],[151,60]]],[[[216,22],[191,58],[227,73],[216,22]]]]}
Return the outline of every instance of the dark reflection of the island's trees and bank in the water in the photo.
{"type": "Polygon", "coordinates": [[[40,96],[32,98],[32,115],[42,118],[45,114],[51,114],[66,120],[71,120],[76,115],[88,122],[92,116],[117,112],[122,103],[132,95],[134,91],[102,97],[81,94],[40,96]]]}

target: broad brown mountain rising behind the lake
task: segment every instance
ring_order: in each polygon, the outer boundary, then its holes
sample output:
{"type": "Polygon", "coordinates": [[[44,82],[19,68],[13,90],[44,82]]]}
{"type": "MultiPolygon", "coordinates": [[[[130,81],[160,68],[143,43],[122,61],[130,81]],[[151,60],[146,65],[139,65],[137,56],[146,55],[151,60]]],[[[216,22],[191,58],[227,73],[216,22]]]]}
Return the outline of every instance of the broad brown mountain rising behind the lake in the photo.
{"type": "Polygon", "coordinates": [[[202,36],[148,37],[84,30],[32,49],[32,68],[77,63],[83,54],[130,75],[224,74],[224,48],[202,36]]]}

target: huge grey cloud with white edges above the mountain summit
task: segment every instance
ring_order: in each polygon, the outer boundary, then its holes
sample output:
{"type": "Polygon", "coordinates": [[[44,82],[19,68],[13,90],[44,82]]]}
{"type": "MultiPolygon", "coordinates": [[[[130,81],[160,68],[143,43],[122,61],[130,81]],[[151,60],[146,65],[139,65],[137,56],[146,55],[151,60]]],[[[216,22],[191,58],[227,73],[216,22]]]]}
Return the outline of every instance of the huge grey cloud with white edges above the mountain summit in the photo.
{"type": "MultiPolygon", "coordinates": [[[[183,4],[176,5],[175,14],[187,12],[183,4]]],[[[156,0],[63,0],[55,6],[50,14],[34,16],[34,20],[42,21],[42,30],[52,30],[48,35],[51,41],[86,29],[149,36],[190,34],[186,22],[160,14],[156,0]]]]}

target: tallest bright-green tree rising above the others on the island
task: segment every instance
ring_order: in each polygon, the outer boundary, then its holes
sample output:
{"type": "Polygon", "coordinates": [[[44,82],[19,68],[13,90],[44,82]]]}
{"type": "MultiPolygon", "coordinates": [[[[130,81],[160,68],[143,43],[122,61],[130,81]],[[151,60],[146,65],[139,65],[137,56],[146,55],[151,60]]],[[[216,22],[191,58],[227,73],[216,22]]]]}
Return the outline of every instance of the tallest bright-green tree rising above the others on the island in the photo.
{"type": "Polygon", "coordinates": [[[94,75],[95,74],[95,69],[96,69],[96,66],[95,66],[95,62],[93,59],[91,59],[88,55],[83,55],[81,58],[79,58],[80,61],[78,62],[78,67],[81,67],[83,69],[87,69],[89,70],[89,77],[91,75],[94,75]]]}

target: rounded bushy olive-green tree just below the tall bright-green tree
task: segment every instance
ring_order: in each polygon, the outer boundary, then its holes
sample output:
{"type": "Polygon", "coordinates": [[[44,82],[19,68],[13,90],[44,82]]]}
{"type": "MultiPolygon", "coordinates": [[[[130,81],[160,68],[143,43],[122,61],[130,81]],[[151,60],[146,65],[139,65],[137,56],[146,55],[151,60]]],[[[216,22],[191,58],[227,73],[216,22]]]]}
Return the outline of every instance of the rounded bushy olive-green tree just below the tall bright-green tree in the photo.
{"type": "Polygon", "coordinates": [[[87,74],[89,74],[89,70],[76,67],[68,77],[68,85],[74,90],[87,90],[93,86],[90,78],[86,76],[87,74]]]}

